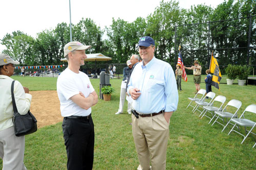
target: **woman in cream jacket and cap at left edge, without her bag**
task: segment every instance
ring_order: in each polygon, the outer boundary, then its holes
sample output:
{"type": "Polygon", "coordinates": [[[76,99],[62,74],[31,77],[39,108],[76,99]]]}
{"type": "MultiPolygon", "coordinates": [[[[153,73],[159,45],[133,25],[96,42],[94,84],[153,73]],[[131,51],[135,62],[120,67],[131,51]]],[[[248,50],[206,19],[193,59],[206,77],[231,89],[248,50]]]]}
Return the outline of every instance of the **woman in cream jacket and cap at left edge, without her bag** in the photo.
{"type": "MultiPolygon", "coordinates": [[[[15,136],[12,117],[13,105],[11,84],[15,65],[18,61],[9,55],[0,54],[0,157],[3,169],[27,169],[24,165],[25,136],[15,136]]],[[[29,89],[18,81],[14,83],[14,98],[17,111],[25,115],[30,109],[32,95],[29,89]]]]}

